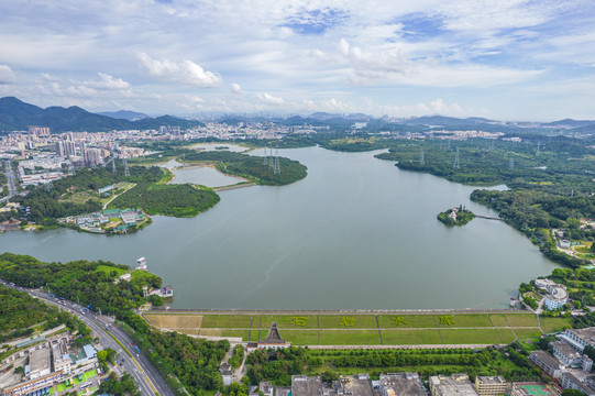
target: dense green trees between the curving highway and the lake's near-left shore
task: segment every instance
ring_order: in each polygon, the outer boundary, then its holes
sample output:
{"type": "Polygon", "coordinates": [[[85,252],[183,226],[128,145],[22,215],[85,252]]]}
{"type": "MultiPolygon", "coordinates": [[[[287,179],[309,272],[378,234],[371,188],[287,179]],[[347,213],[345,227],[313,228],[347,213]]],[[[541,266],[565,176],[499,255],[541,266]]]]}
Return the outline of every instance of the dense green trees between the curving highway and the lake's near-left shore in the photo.
{"type": "MultiPolygon", "coordinates": [[[[158,287],[162,279],[145,274],[139,278],[133,276],[131,282],[113,283],[118,277],[117,268],[128,267],[103,261],[44,263],[27,255],[0,254],[0,278],[25,287],[45,287],[56,296],[114,315],[177,395],[187,396],[183,387],[191,395],[221,387],[219,365],[230,348],[229,342],[153,330],[132,308],[145,301],[143,285],[158,287]],[[114,270],[110,271],[110,267],[114,270]]],[[[161,297],[152,296],[151,299],[158,304],[161,297]]]]}

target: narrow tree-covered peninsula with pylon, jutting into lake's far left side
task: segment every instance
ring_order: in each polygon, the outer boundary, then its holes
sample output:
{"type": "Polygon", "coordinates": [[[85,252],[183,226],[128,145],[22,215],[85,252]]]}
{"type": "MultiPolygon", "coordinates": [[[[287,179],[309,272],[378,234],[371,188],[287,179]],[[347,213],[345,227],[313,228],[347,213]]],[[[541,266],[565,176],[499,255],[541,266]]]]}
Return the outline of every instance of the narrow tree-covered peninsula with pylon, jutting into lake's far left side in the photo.
{"type": "Polygon", "coordinates": [[[240,153],[195,152],[185,155],[181,161],[216,163],[217,168],[225,174],[244,177],[266,186],[284,186],[307,176],[306,166],[285,157],[279,157],[279,174],[275,174],[269,165],[263,164],[263,157],[240,153]]]}

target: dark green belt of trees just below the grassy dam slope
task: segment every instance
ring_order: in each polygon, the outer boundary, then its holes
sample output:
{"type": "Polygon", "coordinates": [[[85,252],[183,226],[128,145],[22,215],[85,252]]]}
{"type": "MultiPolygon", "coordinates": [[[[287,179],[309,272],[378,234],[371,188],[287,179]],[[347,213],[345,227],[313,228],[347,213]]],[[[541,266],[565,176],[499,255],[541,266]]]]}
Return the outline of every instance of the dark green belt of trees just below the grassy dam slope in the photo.
{"type": "Polygon", "coordinates": [[[271,381],[287,386],[291,375],[322,375],[386,372],[419,372],[423,377],[465,372],[477,375],[503,375],[508,381],[541,381],[539,369],[519,345],[505,351],[486,349],[430,350],[305,350],[291,346],[279,351],[255,351],[247,356],[247,381],[271,381]],[[506,352],[503,353],[503,352],[506,352]]]}

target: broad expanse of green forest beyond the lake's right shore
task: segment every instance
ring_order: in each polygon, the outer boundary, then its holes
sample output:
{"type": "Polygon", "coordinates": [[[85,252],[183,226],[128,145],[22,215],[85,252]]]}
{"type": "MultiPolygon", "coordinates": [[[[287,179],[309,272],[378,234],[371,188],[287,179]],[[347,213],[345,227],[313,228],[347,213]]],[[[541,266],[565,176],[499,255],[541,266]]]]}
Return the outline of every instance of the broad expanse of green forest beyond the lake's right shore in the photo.
{"type": "Polygon", "coordinates": [[[568,138],[526,135],[524,143],[471,139],[395,143],[376,157],[396,161],[401,169],[427,172],[465,184],[502,184],[508,190],[474,190],[471,199],[496,210],[509,224],[540,245],[550,258],[570,266],[587,264],[555,248],[550,229],[565,229],[572,240],[594,241],[595,230],[580,219],[595,218],[591,143],[568,138]],[[420,153],[423,150],[423,162],[420,153]],[[459,152],[460,166],[454,166],[459,152]]]}

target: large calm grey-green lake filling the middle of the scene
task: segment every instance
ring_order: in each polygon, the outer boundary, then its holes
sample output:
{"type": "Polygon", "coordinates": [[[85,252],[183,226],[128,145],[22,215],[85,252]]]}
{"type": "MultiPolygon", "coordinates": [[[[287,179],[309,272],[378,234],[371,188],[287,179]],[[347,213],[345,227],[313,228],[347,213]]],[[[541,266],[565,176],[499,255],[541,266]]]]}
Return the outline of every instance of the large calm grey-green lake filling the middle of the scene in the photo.
{"type": "MultiPolygon", "coordinates": [[[[156,216],[130,235],[8,232],[0,251],[128,265],[145,256],[174,286],[173,306],[188,308],[498,308],[555,267],[504,222],[447,228],[436,219],[460,204],[495,215],[469,200],[473,187],[399,170],[373,153],[279,154],[307,165],[308,177],[221,191],[196,218],[156,216]]],[[[199,170],[185,179],[200,183],[199,170]]]]}

